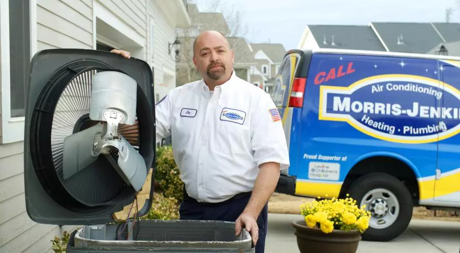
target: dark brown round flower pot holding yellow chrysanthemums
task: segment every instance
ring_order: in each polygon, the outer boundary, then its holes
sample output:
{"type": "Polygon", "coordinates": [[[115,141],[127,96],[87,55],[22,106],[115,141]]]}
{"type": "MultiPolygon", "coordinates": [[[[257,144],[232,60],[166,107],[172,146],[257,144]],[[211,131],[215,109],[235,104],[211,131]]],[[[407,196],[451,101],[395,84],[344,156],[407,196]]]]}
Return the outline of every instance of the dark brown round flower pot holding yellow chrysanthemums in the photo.
{"type": "Polygon", "coordinates": [[[326,234],[320,229],[308,227],[305,220],[293,221],[292,226],[295,228],[294,234],[301,253],[355,253],[361,240],[358,230],[333,230],[326,234]]]}

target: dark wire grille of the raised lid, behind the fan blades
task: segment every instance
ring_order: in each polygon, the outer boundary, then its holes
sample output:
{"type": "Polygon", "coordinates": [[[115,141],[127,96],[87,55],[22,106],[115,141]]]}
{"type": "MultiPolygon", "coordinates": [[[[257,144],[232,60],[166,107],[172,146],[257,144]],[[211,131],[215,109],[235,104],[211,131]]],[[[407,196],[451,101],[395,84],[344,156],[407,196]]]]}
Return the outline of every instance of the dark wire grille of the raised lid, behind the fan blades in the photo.
{"type": "MultiPolygon", "coordinates": [[[[117,196],[125,183],[103,155],[71,178],[63,178],[64,138],[89,128],[98,121],[90,120],[89,105],[93,75],[97,70],[80,73],[64,88],[56,104],[51,131],[51,148],[54,167],[64,187],[76,199],[86,204],[99,204],[117,196]]],[[[120,124],[119,133],[134,148],[139,147],[139,125],[120,124]],[[124,133],[126,131],[126,133],[124,133]]],[[[118,152],[111,156],[118,159],[118,152]]]]}

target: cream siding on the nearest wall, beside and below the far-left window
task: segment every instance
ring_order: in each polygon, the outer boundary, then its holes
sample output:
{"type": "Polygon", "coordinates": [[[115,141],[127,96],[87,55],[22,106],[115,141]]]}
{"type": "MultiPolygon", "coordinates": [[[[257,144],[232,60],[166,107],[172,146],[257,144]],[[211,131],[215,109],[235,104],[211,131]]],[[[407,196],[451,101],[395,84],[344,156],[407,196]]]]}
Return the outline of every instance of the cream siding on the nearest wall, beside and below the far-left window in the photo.
{"type": "MultiPolygon", "coordinates": [[[[92,1],[37,0],[37,50],[93,48],[92,1]]],[[[39,224],[26,212],[24,142],[0,145],[0,252],[53,252],[50,240],[75,226],[39,224]]]]}

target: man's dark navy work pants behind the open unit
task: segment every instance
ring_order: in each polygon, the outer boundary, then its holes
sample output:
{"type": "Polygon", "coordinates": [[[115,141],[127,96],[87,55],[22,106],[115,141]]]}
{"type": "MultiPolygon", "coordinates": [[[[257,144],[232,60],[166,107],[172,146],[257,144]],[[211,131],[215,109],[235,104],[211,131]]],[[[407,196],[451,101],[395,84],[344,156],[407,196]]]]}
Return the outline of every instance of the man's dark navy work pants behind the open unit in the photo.
{"type": "MultiPolygon", "coordinates": [[[[219,220],[235,222],[249,201],[250,193],[242,194],[222,203],[199,203],[195,199],[184,194],[184,200],[180,204],[180,219],[188,220],[219,220]]],[[[256,253],[265,250],[265,237],[268,230],[268,205],[266,204],[257,218],[259,226],[259,239],[256,243],[256,253]]]]}

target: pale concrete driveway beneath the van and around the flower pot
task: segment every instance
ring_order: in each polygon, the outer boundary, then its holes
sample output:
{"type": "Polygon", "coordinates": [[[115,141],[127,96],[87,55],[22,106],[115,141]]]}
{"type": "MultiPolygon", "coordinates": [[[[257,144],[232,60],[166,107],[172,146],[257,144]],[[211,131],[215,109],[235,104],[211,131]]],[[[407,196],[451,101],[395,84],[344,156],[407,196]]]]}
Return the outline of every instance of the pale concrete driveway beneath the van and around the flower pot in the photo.
{"type": "MultiPolygon", "coordinates": [[[[265,253],[300,252],[291,225],[301,215],[268,214],[265,253]]],[[[408,229],[390,242],[361,241],[358,253],[460,253],[460,222],[413,219],[408,229]]]]}

